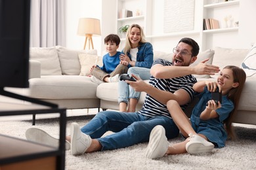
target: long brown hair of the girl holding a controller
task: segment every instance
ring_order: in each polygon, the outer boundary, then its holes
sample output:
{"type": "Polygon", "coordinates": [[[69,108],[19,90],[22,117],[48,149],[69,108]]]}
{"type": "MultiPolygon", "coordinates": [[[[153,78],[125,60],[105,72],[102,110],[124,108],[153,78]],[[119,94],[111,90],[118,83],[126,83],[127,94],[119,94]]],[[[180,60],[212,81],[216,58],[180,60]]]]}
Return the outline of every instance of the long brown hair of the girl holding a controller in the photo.
{"type": "Polygon", "coordinates": [[[224,69],[231,69],[234,77],[234,82],[238,82],[239,85],[236,88],[232,88],[228,92],[228,99],[233,101],[234,103],[234,109],[232,112],[230,112],[228,118],[224,120],[224,126],[226,127],[226,131],[228,133],[228,137],[233,139],[235,137],[234,131],[232,129],[232,122],[234,120],[234,116],[236,116],[238,104],[239,104],[239,99],[242,93],[242,90],[244,88],[245,80],[246,80],[246,74],[243,69],[240,69],[239,67],[236,67],[234,65],[227,65],[224,67],[224,69]]]}

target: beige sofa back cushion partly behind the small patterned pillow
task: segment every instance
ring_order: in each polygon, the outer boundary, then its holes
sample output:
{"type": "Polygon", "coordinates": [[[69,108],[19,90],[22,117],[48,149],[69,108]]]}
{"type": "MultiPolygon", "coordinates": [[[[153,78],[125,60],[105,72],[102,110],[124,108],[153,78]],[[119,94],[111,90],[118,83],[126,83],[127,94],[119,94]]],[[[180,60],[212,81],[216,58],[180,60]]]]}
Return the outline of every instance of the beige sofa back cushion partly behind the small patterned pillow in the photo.
{"type": "Polygon", "coordinates": [[[72,50],[64,46],[56,46],[62,75],[79,75],[81,66],[79,63],[78,54],[96,55],[97,50],[72,50]]]}

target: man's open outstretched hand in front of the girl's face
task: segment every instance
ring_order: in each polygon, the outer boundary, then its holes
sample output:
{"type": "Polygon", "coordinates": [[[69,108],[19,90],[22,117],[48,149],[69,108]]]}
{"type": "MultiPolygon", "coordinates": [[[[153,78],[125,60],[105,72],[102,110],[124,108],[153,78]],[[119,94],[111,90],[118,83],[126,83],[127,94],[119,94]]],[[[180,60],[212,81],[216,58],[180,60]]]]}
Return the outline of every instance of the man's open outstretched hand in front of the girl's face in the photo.
{"type": "Polygon", "coordinates": [[[218,66],[205,63],[209,58],[204,59],[198,65],[194,66],[195,75],[215,75],[221,71],[218,66]]]}

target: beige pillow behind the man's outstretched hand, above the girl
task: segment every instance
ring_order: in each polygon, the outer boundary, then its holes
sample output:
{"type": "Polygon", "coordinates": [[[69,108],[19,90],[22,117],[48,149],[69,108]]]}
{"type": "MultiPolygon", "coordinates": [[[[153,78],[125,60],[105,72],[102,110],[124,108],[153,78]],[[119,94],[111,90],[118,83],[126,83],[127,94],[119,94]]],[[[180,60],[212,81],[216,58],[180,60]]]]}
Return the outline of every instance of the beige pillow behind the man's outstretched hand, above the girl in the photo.
{"type": "MultiPolygon", "coordinates": [[[[198,54],[198,59],[196,59],[196,61],[194,61],[194,63],[190,64],[190,66],[194,67],[196,65],[198,65],[198,63],[200,63],[201,61],[203,61],[204,59],[209,58],[209,60],[206,63],[211,64],[213,62],[213,56],[215,54],[214,50],[208,49],[205,50],[204,52],[199,52],[198,54]]],[[[194,75],[196,78],[210,78],[210,75],[194,75]]]]}

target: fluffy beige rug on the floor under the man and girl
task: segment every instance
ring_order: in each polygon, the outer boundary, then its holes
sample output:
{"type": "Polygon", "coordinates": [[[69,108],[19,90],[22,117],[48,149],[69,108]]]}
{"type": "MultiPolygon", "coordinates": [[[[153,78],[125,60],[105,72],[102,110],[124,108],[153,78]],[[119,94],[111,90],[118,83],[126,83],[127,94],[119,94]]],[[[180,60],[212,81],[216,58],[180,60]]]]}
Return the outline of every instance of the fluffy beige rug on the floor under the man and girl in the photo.
{"type": "MultiPolygon", "coordinates": [[[[68,118],[67,134],[70,133],[71,122],[83,126],[88,121],[85,116],[68,118]]],[[[25,131],[32,127],[32,124],[31,120],[0,119],[0,126],[1,134],[25,139],[25,131]]],[[[58,135],[56,118],[37,120],[35,127],[44,129],[51,135],[58,135]]],[[[128,148],[81,156],[72,156],[70,151],[66,151],[66,169],[256,169],[256,128],[237,126],[235,130],[238,134],[236,141],[227,141],[226,147],[215,148],[209,154],[181,154],[148,160],[144,158],[147,143],[141,143],[128,148]]],[[[177,143],[182,140],[182,137],[177,137],[169,142],[177,143]]]]}

